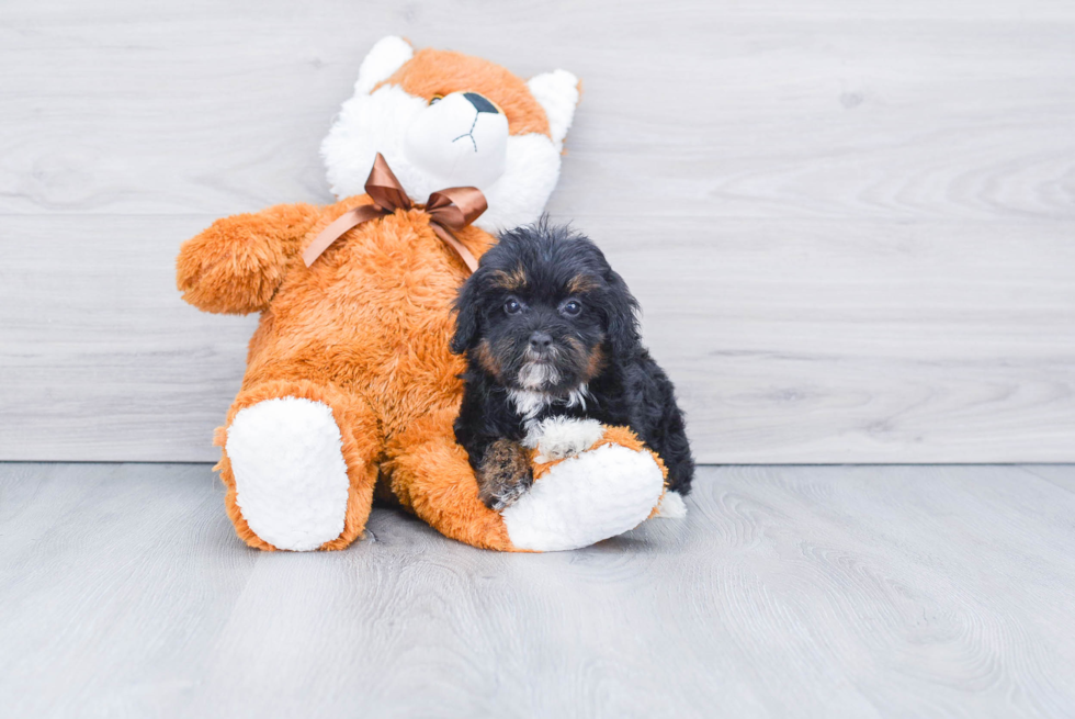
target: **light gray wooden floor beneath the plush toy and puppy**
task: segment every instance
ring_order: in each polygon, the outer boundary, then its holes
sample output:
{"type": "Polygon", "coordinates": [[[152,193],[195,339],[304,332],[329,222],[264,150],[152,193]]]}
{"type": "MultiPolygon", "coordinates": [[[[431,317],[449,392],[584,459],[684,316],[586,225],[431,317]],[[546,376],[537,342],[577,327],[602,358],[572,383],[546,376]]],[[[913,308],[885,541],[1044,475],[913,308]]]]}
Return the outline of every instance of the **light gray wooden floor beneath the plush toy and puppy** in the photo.
{"type": "Polygon", "coordinates": [[[203,464],[0,464],[4,717],[1075,716],[1075,467],[706,468],[497,554],[241,546],[203,464]]]}

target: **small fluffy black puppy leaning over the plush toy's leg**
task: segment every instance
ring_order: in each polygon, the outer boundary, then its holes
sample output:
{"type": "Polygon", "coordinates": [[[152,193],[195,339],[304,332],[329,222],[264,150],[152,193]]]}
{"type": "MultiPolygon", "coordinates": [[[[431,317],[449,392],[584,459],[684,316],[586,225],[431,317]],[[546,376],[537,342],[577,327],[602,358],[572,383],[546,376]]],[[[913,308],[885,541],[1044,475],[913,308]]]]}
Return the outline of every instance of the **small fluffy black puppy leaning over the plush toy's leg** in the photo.
{"type": "Polygon", "coordinates": [[[665,461],[668,488],[690,492],[683,414],[642,346],[637,308],[601,250],[568,227],[520,227],[485,254],[455,301],[452,351],[467,359],[455,438],[488,507],[530,488],[528,432],[550,417],[630,426],[665,461]]]}

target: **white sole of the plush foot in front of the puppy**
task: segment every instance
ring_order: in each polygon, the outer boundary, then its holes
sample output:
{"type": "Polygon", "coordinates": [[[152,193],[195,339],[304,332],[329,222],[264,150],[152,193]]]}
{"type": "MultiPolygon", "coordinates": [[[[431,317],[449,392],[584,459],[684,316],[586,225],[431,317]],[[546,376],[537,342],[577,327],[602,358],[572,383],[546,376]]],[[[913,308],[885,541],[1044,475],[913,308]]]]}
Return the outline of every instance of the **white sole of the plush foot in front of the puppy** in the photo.
{"type": "Polygon", "coordinates": [[[500,516],[519,549],[578,549],[642,524],[664,484],[648,452],[604,445],[553,467],[500,516]]]}

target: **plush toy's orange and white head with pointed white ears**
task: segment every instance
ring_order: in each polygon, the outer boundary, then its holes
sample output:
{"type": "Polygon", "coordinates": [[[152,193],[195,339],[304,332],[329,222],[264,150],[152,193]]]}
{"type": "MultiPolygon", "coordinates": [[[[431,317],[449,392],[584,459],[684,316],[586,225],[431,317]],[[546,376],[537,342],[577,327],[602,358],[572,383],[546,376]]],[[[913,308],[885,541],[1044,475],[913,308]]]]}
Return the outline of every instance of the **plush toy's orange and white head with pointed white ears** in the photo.
{"type": "Polygon", "coordinates": [[[381,153],[416,202],[473,186],[489,203],[475,223],[483,229],[534,222],[559,178],[578,98],[565,70],[523,81],[488,60],[385,37],[321,144],[332,192],[364,192],[381,153]]]}

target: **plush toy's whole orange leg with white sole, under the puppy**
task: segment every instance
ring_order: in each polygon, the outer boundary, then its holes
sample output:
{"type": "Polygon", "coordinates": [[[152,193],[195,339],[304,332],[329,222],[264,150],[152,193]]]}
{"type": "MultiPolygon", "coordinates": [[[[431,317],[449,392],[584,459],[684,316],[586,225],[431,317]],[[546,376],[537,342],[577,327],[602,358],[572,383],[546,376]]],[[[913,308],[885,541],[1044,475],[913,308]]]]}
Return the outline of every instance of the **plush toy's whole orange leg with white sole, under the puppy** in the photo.
{"type": "Polygon", "coordinates": [[[507,551],[587,547],[656,514],[664,467],[623,427],[587,420],[535,436],[534,485],[501,513],[478,499],[455,411],[431,413],[388,442],[392,487],[415,514],[460,541],[507,551]],[[544,452],[544,453],[543,453],[544,452]]]}

